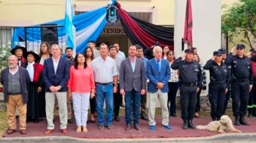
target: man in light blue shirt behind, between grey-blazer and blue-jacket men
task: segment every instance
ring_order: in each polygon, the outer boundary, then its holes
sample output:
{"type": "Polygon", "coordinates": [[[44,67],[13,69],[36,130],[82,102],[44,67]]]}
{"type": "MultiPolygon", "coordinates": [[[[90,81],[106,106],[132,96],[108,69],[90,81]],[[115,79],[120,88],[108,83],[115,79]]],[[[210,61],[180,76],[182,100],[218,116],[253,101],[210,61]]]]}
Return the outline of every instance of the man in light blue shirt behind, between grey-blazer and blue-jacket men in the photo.
{"type": "Polygon", "coordinates": [[[136,58],[143,61],[144,71],[145,71],[145,80],[146,80],[146,88],[145,94],[141,95],[141,119],[148,121],[147,117],[147,91],[148,91],[148,77],[147,77],[147,62],[148,59],[144,57],[143,48],[140,45],[135,45],[137,48],[136,58]]]}

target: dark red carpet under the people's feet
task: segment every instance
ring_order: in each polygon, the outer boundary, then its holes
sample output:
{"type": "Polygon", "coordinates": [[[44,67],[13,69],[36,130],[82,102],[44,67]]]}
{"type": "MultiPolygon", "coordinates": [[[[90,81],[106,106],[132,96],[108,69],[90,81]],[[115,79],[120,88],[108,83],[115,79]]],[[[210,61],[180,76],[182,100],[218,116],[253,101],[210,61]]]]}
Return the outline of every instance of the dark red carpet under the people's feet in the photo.
{"type": "MultiPolygon", "coordinates": [[[[97,118],[96,118],[97,119],[97,118]]],[[[234,121],[234,118],[231,118],[234,121]]],[[[76,124],[68,124],[68,134],[67,136],[77,137],[77,138],[180,138],[180,137],[203,137],[203,136],[212,136],[218,133],[210,132],[207,130],[192,130],[187,129],[183,130],[182,119],[180,117],[170,117],[170,125],[172,130],[168,131],[161,127],[161,116],[156,116],[156,130],[150,131],[148,121],[139,120],[139,125],[142,128],[142,131],[137,131],[132,128],[130,131],[125,131],[125,121],[124,117],[120,117],[120,122],[113,121],[114,129],[107,129],[99,131],[97,123],[88,123],[88,133],[76,133],[77,128],[76,124]]],[[[235,128],[240,129],[243,133],[253,133],[256,131],[256,118],[246,118],[250,123],[250,126],[235,126],[235,128]]],[[[200,117],[199,119],[195,118],[193,120],[195,125],[206,125],[211,121],[210,116],[200,117]]],[[[50,134],[51,136],[63,136],[59,128],[60,122],[58,119],[55,119],[55,130],[54,133],[50,134]]],[[[19,127],[19,125],[17,126],[19,127]]],[[[27,123],[27,134],[21,135],[19,130],[13,134],[4,133],[3,137],[27,137],[27,136],[46,136],[44,132],[46,131],[46,120],[42,119],[39,123],[28,122],[27,123]]]]}

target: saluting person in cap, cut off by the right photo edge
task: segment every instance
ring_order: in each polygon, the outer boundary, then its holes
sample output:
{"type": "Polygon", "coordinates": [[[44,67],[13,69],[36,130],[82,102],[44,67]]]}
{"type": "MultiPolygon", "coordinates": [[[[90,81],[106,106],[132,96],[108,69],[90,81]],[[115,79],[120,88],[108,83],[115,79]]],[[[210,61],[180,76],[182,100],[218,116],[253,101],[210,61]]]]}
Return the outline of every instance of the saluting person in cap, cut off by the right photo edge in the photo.
{"type": "MultiPolygon", "coordinates": [[[[256,49],[251,49],[247,54],[248,57],[256,55],[256,49]]],[[[256,62],[251,60],[252,72],[253,72],[253,86],[249,94],[249,100],[247,105],[248,117],[256,116],[256,62]]]]}

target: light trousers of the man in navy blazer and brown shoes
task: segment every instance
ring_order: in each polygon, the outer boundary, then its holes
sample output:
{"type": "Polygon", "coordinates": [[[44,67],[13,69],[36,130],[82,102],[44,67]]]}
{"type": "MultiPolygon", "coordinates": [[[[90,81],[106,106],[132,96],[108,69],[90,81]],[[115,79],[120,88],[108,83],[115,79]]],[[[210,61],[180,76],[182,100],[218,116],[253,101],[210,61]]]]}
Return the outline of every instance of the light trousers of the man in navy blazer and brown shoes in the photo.
{"type": "Polygon", "coordinates": [[[59,104],[59,116],[60,116],[60,129],[67,128],[68,121],[68,113],[67,113],[67,92],[46,92],[45,93],[45,111],[46,111],[46,119],[47,119],[47,129],[54,129],[53,124],[53,115],[54,115],[54,103],[55,96],[57,97],[57,101],[59,104]]]}

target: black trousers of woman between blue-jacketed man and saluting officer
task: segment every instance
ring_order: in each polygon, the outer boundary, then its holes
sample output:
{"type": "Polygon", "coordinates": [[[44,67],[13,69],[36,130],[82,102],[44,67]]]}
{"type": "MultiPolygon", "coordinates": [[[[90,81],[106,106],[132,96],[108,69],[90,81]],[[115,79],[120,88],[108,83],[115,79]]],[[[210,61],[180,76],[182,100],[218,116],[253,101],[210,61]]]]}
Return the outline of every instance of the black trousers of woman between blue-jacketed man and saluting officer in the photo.
{"type": "Polygon", "coordinates": [[[179,82],[168,82],[168,101],[167,101],[167,107],[170,110],[171,114],[176,114],[176,94],[177,90],[179,88],[179,82]],[[171,102],[171,105],[169,107],[169,102],[171,102]]]}

